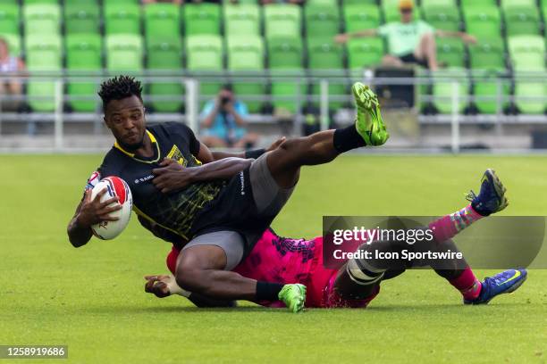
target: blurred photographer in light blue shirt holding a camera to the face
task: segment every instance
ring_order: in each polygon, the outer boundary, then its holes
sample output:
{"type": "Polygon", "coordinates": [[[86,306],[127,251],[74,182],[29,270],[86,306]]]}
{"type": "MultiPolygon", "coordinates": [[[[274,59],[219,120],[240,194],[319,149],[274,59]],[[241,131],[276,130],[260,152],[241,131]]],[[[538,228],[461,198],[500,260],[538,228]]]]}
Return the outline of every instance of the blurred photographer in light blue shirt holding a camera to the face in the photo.
{"type": "Polygon", "coordinates": [[[224,86],[201,112],[201,141],[210,147],[252,147],[258,136],[247,132],[247,115],[247,105],[235,98],[230,85],[224,86]]]}

